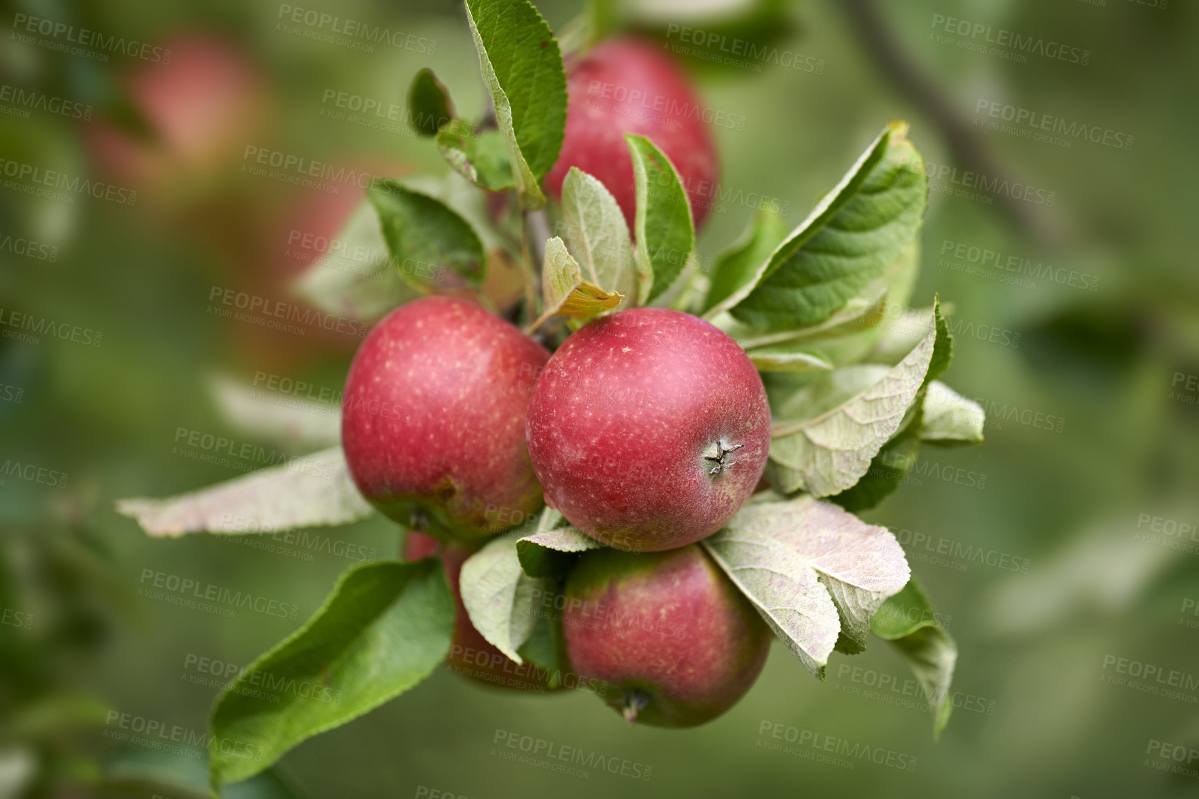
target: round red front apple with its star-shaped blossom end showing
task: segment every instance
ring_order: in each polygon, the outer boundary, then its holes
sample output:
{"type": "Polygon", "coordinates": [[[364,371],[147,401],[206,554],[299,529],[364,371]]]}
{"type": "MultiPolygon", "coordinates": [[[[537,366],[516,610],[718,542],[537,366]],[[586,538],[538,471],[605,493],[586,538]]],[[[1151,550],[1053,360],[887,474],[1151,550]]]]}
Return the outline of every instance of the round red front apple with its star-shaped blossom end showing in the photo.
{"type": "Polygon", "coordinates": [[[550,358],[529,403],[529,453],[555,507],[619,549],[681,547],[721,529],[770,452],[761,378],[724,332],[691,314],[603,317],[550,358]],[[713,443],[733,449],[717,474],[713,443]]]}

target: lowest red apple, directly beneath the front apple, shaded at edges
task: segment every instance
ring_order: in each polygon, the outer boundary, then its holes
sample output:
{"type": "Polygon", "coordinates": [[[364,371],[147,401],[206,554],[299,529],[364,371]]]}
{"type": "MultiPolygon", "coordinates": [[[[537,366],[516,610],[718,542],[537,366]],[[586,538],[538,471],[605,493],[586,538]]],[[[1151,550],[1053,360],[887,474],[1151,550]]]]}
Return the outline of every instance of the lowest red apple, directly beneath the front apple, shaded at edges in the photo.
{"type": "Polygon", "coordinates": [[[637,721],[692,727],[745,696],[770,651],[771,632],[699,545],[635,554],[594,549],[566,579],[562,632],[572,667],[649,695],[637,721]]]}

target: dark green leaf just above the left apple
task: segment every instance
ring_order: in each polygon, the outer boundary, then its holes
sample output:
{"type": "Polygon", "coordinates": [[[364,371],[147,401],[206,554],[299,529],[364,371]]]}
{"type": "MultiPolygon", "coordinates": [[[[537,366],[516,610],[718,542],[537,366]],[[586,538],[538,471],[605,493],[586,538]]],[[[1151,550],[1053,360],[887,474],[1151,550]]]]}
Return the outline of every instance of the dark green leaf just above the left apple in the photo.
{"type": "Polygon", "coordinates": [[[444,270],[478,286],[487,258],[474,228],[439,199],[394,180],[374,180],[367,197],[379,212],[392,263],[409,281],[424,287],[445,282],[444,270]],[[434,278],[420,276],[433,274],[434,278]]]}

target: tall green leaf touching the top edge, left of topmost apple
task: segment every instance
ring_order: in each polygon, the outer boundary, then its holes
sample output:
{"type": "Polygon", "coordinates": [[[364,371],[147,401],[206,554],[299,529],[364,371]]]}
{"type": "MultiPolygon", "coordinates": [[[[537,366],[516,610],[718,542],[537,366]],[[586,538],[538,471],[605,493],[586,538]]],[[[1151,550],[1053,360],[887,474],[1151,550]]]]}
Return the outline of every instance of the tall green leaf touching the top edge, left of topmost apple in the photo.
{"type": "Polygon", "coordinates": [[[528,0],[466,0],[483,83],[524,208],[546,204],[541,181],[566,131],[566,71],[549,25],[528,0]]]}

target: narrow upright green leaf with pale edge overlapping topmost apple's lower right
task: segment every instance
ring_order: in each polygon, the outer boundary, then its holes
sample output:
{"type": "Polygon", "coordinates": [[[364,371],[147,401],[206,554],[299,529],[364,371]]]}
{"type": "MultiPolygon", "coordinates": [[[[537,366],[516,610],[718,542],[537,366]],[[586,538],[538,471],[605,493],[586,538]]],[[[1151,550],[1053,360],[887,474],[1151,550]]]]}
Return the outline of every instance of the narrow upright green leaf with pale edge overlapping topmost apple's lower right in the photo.
{"type": "Polygon", "coordinates": [[[670,158],[644,136],[625,134],[637,186],[638,302],[647,305],[670,288],[695,247],[691,202],[670,158]]]}

